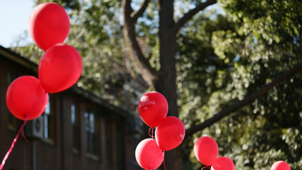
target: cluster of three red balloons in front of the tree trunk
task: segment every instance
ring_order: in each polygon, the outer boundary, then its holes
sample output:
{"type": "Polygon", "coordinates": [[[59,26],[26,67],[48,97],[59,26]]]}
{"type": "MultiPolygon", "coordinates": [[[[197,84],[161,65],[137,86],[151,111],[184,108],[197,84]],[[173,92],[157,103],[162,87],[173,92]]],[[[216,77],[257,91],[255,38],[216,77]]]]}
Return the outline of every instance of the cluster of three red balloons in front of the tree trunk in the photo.
{"type": "Polygon", "coordinates": [[[144,94],[138,103],[138,112],[143,122],[152,129],[152,139],[144,139],[137,145],[135,158],[143,169],[154,170],[162,164],[164,151],[176,148],[183,141],[185,126],[177,117],[166,117],[168,102],[158,92],[144,94]]]}

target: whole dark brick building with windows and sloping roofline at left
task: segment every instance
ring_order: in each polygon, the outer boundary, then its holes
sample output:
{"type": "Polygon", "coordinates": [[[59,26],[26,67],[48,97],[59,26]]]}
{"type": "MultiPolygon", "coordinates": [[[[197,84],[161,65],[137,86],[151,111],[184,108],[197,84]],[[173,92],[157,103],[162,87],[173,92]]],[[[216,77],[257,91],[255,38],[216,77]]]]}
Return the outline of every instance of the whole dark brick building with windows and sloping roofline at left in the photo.
{"type": "MultiPolygon", "coordinates": [[[[0,159],[23,121],[9,113],[5,94],[17,77],[37,77],[37,64],[0,46],[0,159]]],[[[76,86],[50,94],[45,112],[25,128],[4,170],[141,169],[135,160],[140,139],[136,118],[76,86]],[[133,121],[134,120],[134,121],[133,121]]]]}

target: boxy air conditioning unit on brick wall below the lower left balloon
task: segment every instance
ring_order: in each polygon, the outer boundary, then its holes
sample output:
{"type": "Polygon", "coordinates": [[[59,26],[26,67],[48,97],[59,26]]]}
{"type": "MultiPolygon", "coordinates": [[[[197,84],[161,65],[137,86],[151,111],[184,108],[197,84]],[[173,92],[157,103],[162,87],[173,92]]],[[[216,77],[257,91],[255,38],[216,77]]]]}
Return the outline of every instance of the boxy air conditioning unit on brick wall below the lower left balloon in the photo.
{"type": "Polygon", "coordinates": [[[43,116],[39,116],[36,119],[29,120],[25,125],[25,137],[32,139],[43,138],[43,116]]]}

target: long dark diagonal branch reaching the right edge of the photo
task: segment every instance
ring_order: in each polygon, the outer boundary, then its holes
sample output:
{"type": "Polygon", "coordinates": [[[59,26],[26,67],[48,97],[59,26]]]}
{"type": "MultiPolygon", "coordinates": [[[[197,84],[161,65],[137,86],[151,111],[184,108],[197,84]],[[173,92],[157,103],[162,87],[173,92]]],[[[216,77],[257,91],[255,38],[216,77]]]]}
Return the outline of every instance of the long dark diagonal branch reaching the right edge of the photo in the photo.
{"type": "Polygon", "coordinates": [[[219,121],[222,119],[224,116],[229,115],[230,113],[235,112],[236,110],[240,109],[241,107],[245,106],[248,103],[251,103],[258,97],[264,95],[268,90],[272,89],[274,86],[276,86],[278,83],[282,82],[283,80],[288,79],[289,77],[293,76],[294,74],[301,72],[302,71],[302,64],[297,64],[294,68],[289,70],[288,72],[285,72],[282,74],[280,77],[276,78],[273,80],[271,83],[262,86],[259,90],[255,91],[254,93],[246,96],[243,100],[238,101],[237,103],[230,105],[220,111],[219,113],[215,114],[213,117],[210,119],[207,119],[203,123],[200,123],[198,125],[192,126],[189,129],[186,129],[186,136],[190,136],[193,133],[203,130],[206,127],[211,126],[213,123],[219,121]]]}

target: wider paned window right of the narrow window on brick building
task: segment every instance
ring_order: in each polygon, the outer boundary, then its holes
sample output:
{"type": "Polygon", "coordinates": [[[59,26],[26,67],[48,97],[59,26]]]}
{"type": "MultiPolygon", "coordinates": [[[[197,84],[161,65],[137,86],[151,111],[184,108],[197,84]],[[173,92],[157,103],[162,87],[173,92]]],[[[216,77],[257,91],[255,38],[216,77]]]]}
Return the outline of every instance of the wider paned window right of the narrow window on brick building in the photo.
{"type": "Polygon", "coordinates": [[[95,114],[86,111],[85,114],[85,149],[88,155],[98,158],[98,135],[95,114]]]}

